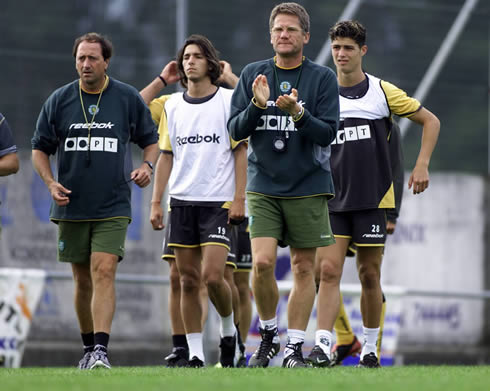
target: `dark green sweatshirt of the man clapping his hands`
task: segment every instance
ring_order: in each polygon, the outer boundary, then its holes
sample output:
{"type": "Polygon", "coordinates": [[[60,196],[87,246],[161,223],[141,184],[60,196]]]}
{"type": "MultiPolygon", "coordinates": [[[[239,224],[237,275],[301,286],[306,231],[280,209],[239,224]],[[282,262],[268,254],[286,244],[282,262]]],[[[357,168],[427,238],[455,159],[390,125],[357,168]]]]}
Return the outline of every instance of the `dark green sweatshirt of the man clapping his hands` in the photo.
{"type": "Polygon", "coordinates": [[[244,68],[231,101],[228,130],[235,140],[250,137],[248,192],[284,198],[333,195],[330,143],[339,120],[338,94],[334,72],[308,59],[292,69],[276,66],[274,59],[244,68]],[[270,89],[265,109],[252,102],[252,83],[259,74],[267,77],[270,89]],[[292,88],[304,108],[296,122],[275,105],[292,88]]]}

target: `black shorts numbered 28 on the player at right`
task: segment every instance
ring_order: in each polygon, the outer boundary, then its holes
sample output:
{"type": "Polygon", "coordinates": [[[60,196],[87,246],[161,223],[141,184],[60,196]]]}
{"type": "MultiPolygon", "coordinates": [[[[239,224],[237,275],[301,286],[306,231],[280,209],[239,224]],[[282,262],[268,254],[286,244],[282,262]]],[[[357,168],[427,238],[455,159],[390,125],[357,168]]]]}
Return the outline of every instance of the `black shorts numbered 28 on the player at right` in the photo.
{"type": "Polygon", "coordinates": [[[384,209],[330,212],[330,225],[335,237],[351,239],[358,247],[384,246],[386,241],[384,209]]]}

